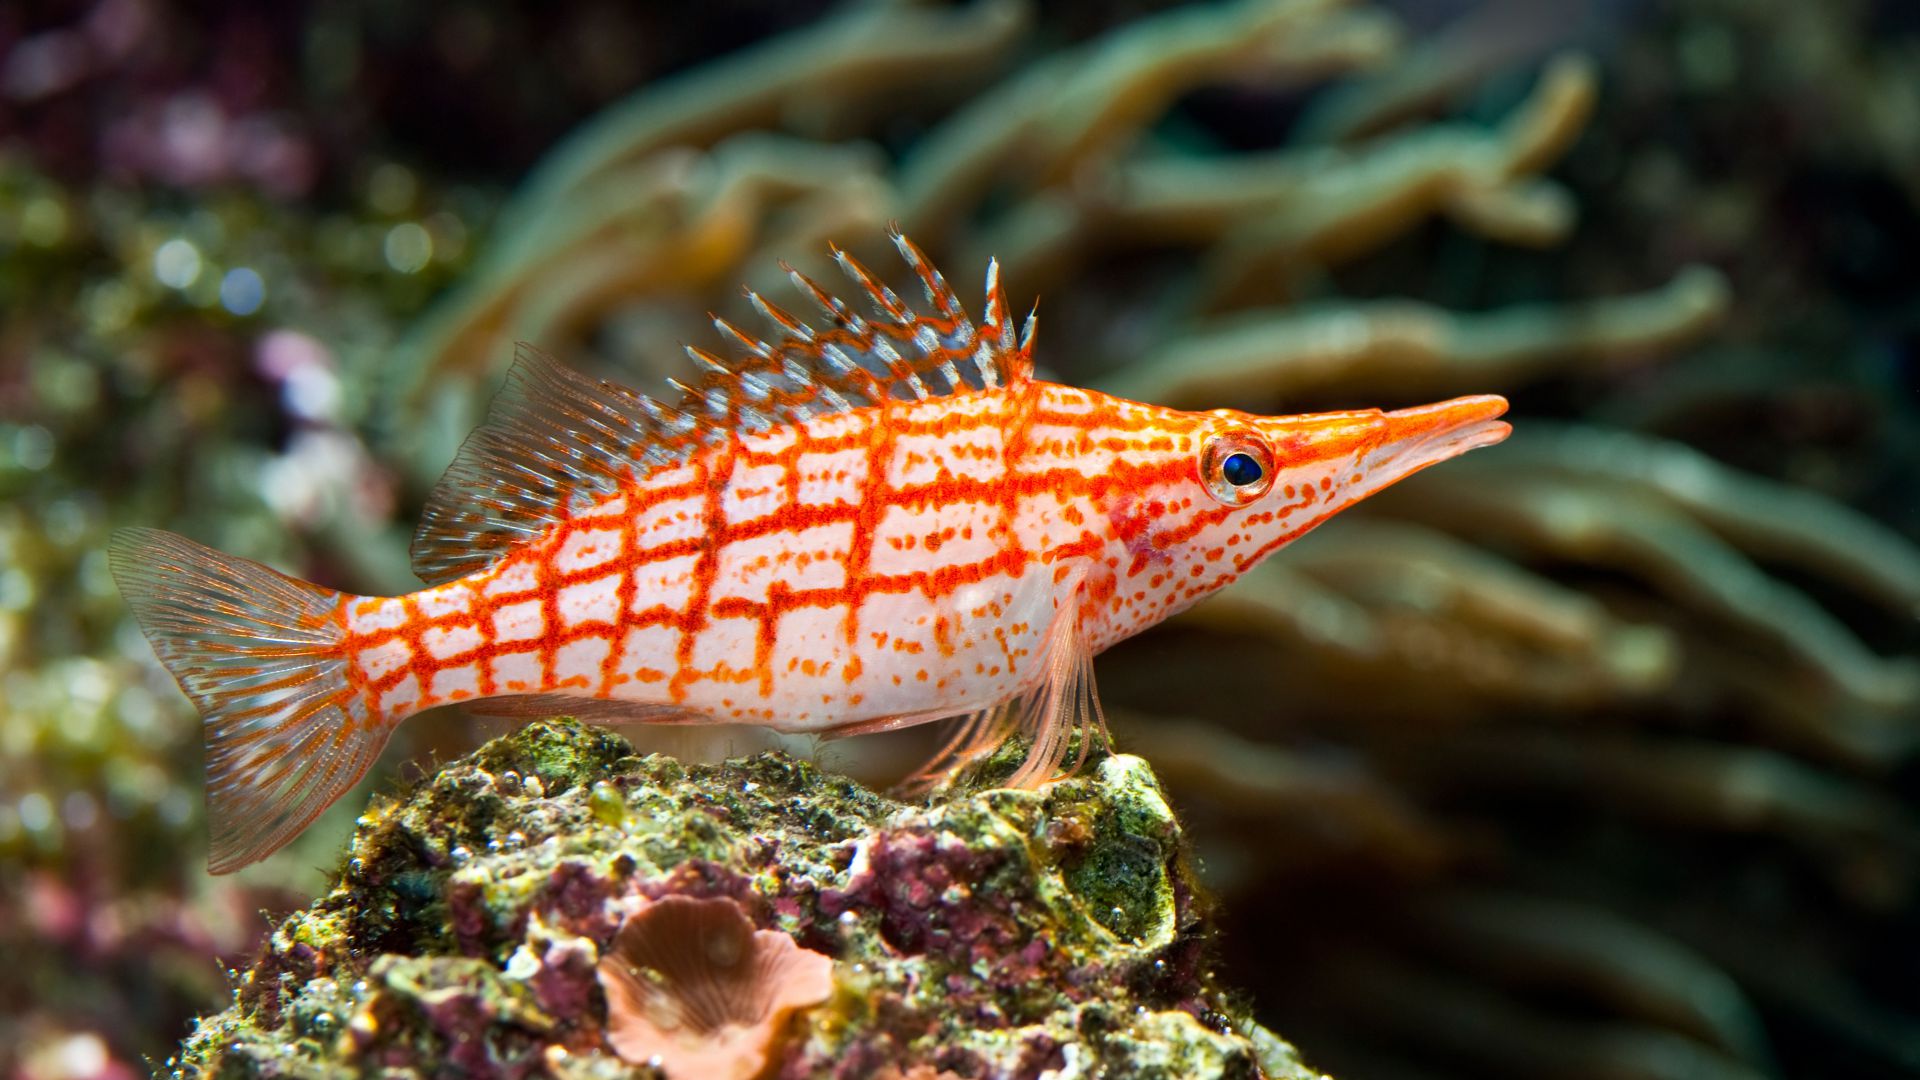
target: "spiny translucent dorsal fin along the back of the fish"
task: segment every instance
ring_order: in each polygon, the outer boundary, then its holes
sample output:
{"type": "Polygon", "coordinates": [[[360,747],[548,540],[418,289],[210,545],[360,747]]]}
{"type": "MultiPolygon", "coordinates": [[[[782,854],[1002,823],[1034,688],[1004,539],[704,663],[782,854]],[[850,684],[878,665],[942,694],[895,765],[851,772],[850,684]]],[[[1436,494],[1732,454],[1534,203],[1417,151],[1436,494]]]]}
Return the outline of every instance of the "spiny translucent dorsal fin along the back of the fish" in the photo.
{"type": "Polygon", "coordinates": [[[920,248],[899,233],[893,242],[920,277],[931,313],[914,311],[835,248],[872,319],[789,267],[828,325],[816,329],[749,292],[774,340],[716,317],[737,356],[687,348],[703,375],[693,384],[668,380],[680,390],[676,405],[520,346],[486,421],[426,498],[413,538],[415,573],[438,584],[484,569],[568,511],[732,434],[889,400],[1023,386],[1033,377],[1031,336],[1016,344],[998,267],[987,267],[987,319],[975,329],[920,248]]]}

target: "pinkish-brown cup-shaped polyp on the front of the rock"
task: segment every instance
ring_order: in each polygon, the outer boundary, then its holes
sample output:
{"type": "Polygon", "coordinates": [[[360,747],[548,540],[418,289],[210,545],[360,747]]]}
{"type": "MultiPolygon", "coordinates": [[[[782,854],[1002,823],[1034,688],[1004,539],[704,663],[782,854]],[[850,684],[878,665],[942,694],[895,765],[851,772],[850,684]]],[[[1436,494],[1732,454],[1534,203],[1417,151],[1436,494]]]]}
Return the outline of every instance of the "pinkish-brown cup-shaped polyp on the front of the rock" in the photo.
{"type": "Polygon", "coordinates": [[[628,917],[599,961],[607,1043],[672,1080],[760,1076],[797,1009],[833,992],[833,961],[755,930],[732,899],[668,896],[628,917]]]}

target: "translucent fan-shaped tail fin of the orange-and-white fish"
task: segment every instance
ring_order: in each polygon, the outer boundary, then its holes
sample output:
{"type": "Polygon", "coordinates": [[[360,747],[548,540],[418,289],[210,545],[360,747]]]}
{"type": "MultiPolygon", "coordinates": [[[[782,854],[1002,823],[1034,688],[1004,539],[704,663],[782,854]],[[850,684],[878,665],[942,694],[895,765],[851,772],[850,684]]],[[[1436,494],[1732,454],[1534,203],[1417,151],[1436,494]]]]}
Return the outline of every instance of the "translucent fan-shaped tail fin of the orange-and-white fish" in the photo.
{"type": "Polygon", "coordinates": [[[334,590],[157,528],[123,528],[113,580],[205,719],[207,869],[275,853],[386,746],[348,684],[334,590]]]}

